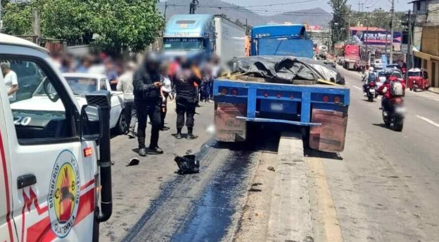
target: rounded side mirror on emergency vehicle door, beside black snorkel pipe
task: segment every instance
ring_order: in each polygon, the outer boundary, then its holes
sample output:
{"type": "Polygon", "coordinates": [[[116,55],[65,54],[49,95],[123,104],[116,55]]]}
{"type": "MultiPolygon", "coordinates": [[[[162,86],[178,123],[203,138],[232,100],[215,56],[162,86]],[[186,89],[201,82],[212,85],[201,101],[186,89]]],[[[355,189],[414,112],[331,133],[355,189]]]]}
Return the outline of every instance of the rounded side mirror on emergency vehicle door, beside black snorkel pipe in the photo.
{"type": "Polygon", "coordinates": [[[81,109],[80,132],[82,140],[100,139],[103,133],[101,108],[96,105],[84,105],[81,109]]]}

